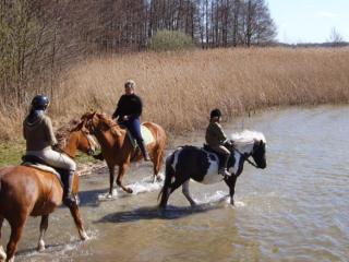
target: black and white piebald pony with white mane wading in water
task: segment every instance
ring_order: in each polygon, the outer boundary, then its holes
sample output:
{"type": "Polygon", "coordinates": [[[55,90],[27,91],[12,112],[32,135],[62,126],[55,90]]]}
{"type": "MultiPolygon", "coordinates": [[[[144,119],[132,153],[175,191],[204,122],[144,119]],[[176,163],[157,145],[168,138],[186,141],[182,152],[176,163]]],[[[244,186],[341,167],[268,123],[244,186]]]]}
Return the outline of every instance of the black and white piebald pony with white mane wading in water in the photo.
{"type": "Polygon", "coordinates": [[[160,207],[166,207],[169,195],[180,186],[190,204],[195,205],[195,201],[189,193],[190,179],[204,184],[224,180],[229,187],[230,203],[233,204],[236,182],[242,172],[244,162],[249,162],[256,168],[266,167],[266,141],[263,133],[250,130],[234,133],[231,138],[232,143],[227,144],[227,148],[231,152],[228,163],[228,170],[232,174],[230,177],[218,174],[219,159],[212,151],[185,145],[170,154],[166,159],[165,181],[159,194],[160,207]]]}

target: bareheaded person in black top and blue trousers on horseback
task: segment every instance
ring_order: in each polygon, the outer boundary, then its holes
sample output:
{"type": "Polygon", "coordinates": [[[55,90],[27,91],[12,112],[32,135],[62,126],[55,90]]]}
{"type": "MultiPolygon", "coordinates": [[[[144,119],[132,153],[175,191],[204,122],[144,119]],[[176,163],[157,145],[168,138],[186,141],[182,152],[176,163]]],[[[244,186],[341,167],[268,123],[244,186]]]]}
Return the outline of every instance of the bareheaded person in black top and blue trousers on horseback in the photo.
{"type": "Polygon", "coordinates": [[[140,117],[142,115],[143,104],[140,96],[135,94],[135,82],[128,80],[124,84],[124,95],[118,102],[118,106],[112,114],[112,118],[117,119],[119,123],[125,126],[136,140],[137,145],[142,152],[144,160],[149,160],[144,140],[141,134],[140,117]]]}

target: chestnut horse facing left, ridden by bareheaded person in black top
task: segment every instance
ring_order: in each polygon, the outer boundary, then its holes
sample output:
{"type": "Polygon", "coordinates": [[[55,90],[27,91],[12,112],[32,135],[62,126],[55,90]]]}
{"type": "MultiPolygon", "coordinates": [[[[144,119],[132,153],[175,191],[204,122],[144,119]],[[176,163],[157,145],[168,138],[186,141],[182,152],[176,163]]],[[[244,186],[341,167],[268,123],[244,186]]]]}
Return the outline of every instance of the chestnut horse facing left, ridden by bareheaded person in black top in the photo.
{"type": "MultiPolygon", "coordinates": [[[[115,166],[119,166],[117,184],[125,192],[132,193],[132,189],[122,184],[122,177],[131,162],[139,162],[143,158],[140,150],[135,150],[127,135],[127,130],[120,127],[105,114],[87,112],[82,117],[84,127],[96,136],[100,144],[101,153],[109,168],[109,194],[112,195],[115,181],[115,166]]],[[[153,162],[154,181],[159,180],[158,172],[163,165],[166,133],[165,130],[153,122],[142,123],[148,128],[154,136],[154,142],[146,145],[153,162]]]]}

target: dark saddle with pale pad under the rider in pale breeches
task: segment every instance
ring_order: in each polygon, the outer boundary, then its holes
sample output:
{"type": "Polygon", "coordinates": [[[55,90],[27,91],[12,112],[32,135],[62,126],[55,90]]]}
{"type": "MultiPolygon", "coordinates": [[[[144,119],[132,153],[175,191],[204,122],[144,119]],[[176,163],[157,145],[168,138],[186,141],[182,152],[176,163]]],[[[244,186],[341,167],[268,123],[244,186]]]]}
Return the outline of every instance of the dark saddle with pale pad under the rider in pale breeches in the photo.
{"type": "Polygon", "coordinates": [[[22,160],[23,160],[23,163],[21,164],[21,166],[34,167],[36,169],[53,174],[58,178],[58,180],[60,181],[62,188],[63,189],[67,188],[67,186],[68,186],[67,170],[61,169],[61,168],[56,168],[56,167],[53,168],[50,165],[48,165],[43,158],[40,158],[38,156],[23,155],[22,160]]]}

